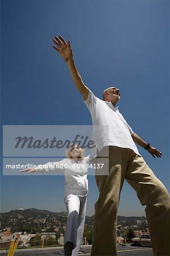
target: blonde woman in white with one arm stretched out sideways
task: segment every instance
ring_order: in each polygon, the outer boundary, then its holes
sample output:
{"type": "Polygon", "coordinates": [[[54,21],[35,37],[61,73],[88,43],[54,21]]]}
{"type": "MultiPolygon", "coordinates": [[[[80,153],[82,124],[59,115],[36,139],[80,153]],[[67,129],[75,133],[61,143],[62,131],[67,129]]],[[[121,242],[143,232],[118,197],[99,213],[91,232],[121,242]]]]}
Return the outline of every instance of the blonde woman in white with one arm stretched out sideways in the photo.
{"type": "Polygon", "coordinates": [[[63,170],[65,175],[65,204],[68,212],[65,229],[65,255],[78,256],[82,243],[86,217],[86,197],[88,192],[87,167],[89,156],[84,158],[84,150],[78,144],[71,144],[66,150],[66,158],[58,162],[39,164],[19,172],[51,172],[63,170]]]}

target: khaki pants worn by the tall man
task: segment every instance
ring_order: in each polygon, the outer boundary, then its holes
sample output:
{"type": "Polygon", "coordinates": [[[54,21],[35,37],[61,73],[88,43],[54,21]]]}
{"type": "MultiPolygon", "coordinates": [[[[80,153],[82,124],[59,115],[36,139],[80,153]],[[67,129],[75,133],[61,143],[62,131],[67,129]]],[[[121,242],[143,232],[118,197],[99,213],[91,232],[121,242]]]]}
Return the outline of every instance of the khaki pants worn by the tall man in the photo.
{"type": "MultiPolygon", "coordinates": [[[[96,161],[105,155],[104,147],[96,161]]],[[[129,148],[109,146],[109,175],[97,175],[99,199],[95,204],[91,255],[117,255],[117,208],[124,179],[135,189],[150,230],[154,255],[170,255],[170,199],[167,189],[129,148]]],[[[161,170],[160,170],[161,171],[161,170]]],[[[129,199],[130,200],[130,199],[129,199]]]]}

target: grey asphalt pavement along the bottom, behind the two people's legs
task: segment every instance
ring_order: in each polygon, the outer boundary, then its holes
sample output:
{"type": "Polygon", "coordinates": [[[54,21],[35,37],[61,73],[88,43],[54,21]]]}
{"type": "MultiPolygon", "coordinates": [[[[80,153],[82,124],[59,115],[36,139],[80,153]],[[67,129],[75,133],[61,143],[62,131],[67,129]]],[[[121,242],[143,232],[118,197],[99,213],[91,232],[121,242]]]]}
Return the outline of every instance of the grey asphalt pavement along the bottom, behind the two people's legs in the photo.
{"type": "MultiPolygon", "coordinates": [[[[6,255],[6,251],[1,252],[1,255],[6,255]]],[[[91,245],[81,246],[79,256],[90,256],[91,245]]],[[[118,245],[118,256],[154,256],[151,247],[135,247],[118,245]]],[[[63,247],[52,247],[52,248],[37,248],[37,249],[19,249],[15,251],[16,256],[62,256],[63,247]]]]}

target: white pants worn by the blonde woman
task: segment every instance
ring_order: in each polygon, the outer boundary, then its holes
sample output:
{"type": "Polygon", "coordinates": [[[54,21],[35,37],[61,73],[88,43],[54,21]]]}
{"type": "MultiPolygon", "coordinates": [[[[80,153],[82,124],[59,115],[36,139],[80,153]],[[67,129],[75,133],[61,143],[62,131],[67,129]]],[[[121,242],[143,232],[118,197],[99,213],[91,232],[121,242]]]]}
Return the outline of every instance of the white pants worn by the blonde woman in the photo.
{"type": "Polygon", "coordinates": [[[84,222],[86,217],[86,196],[69,195],[65,197],[68,212],[64,244],[74,243],[72,256],[78,256],[82,244],[84,222]]]}

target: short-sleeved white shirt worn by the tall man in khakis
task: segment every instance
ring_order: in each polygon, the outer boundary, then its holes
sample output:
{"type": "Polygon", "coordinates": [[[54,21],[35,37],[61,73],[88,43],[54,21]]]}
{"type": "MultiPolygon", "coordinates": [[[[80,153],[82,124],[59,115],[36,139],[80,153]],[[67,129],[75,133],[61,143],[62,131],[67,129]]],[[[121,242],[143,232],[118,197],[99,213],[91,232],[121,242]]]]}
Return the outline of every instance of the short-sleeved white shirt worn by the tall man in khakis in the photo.
{"type": "Polygon", "coordinates": [[[94,125],[92,138],[97,150],[100,151],[105,146],[117,146],[130,148],[140,155],[131,137],[133,130],[112,102],[100,100],[90,90],[84,103],[91,113],[94,125]]]}

